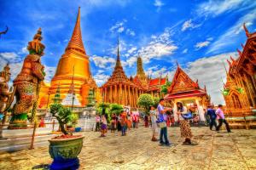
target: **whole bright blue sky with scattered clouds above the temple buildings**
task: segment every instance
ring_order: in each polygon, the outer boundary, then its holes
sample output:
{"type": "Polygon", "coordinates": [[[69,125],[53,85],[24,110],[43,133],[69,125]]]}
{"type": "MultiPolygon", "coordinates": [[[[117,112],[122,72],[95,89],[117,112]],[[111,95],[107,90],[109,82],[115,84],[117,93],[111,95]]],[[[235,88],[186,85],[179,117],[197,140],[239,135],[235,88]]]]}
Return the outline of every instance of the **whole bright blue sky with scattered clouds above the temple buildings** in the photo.
{"type": "Polygon", "coordinates": [[[136,74],[137,55],[151,77],[172,80],[176,61],[189,76],[207,85],[215,104],[225,81],[223,61],[237,58],[236,48],[246,42],[242,23],[256,28],[256,1],[249,0],[0,0],[0,29],[9,32],[0,39],[0,68],[9,61],[13,77],[27,54],[26,44],[42,27],[46,46],[42,61],[47,77],[72,35],[79,6],[81,28],[91,71],[100,86],[113,71],[117,37],[127,76],[136,74]]]}

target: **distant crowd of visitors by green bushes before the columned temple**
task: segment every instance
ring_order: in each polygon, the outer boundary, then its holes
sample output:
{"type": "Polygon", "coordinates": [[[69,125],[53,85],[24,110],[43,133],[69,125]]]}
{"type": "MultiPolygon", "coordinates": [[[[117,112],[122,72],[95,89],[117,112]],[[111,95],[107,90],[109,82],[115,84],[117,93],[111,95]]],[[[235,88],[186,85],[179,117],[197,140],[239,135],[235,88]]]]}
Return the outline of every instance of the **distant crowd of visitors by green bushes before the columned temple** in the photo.
{"type": "MultiPolygon", "coordinates": [[[[105,137],[108,131],[108,117],[107,114],[103,114],[102,116],[96,116],[96,131],[101,131],[101,137],[105,137]]],[[[126,112],[122,111],[119,115],[113,114],[111,116],[111,133],[117,131],[121,131],[121,135],[125,136],[127,129],[137,128],[139,122],[139,116],[137,114],[133,114],[131,111],[126,112]]]]}

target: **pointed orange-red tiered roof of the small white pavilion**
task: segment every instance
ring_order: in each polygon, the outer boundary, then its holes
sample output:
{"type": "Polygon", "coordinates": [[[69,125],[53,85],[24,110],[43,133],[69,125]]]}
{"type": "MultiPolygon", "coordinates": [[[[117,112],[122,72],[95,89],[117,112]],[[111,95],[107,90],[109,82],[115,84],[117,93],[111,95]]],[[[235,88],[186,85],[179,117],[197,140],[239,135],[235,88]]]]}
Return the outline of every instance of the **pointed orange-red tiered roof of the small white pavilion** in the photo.
{"type": "Polygon", "coordinates": [[[198,82],[194,82],[180,67],[172,79],[172,84],[168,88],[168,94],[165,99],[177,99],[184,97],[204,96],[207,95],[206,90],[199,87],[198,82]]]}

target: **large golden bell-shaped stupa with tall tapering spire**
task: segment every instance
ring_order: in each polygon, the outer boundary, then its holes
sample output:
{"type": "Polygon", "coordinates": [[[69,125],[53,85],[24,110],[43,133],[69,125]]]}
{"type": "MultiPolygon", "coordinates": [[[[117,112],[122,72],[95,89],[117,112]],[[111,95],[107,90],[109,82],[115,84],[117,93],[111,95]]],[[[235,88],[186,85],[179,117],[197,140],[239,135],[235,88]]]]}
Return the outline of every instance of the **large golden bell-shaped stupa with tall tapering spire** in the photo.
{"type": "Polygon", "coordinates": [[[49,91],[47,92],[46,89],[48,87],[44,86],[44,90],[41,92],[41,108],[46,107],[45,101],[48,101],[48,105],[53,103],[52,98],[54,98],[58,86],[60,86],[61,100],[65,99],[70,87],[73,86],[74,94],[81,104],[75,106],[86,105],[89,89],[94,88],[96,91],[98,89],[96,82],[93,80],[90,73],[89,56],[85,52],[82,40],[80,8],[76,24],[73,29],[73,35],[67,44],[65,53],[62,54],[61,59],[59,60],[55,76],[52,78],[49,85],[49,91]]]}

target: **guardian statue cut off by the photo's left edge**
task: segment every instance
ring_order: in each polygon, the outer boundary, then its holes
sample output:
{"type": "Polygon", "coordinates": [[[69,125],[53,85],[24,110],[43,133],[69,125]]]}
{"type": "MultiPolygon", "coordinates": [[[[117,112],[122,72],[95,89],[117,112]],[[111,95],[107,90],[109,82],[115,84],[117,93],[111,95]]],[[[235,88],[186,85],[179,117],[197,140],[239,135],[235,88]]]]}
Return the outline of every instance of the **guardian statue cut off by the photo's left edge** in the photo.
{"type": "Polygon", "coordinates": [[[9,108],[11,104],[10,97],[12,94],[12,90],[9,89],[9,79],[10,79],[10,72],[9,72],[9,64],[5,65],[3,71],[0,72],[0,114],[3,116],[3,123],[5,122],[5,114],[6,110],[9,108]]]}

